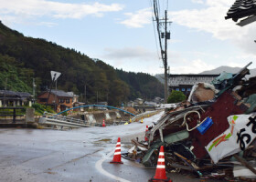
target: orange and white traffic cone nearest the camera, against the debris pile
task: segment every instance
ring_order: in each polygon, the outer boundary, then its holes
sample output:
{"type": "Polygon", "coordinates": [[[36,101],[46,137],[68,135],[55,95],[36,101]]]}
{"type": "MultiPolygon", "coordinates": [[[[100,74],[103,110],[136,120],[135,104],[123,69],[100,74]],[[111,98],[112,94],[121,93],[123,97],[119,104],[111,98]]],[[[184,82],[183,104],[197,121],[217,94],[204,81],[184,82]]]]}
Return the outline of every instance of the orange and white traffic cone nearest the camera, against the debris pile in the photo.
{"type": "Polygon", "coordinates": [[[161,146],[159,157],[157,160],[157,166],[155,170],[155,177],[152,177],[148,181],[150,182],[172,182],[170,178],[166,177],[165,173],[165,153],[164,153],[164,146],[161,146]]]}

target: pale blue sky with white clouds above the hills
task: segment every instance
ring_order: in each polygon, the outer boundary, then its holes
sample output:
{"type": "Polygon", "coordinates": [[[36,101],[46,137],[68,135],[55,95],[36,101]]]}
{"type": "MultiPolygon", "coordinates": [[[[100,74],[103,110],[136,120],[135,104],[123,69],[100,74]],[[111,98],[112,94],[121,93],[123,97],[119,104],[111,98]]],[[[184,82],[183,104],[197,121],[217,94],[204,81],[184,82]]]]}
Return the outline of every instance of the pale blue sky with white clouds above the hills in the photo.
{"type": "MultiPolygon", "coordinates": [[[[255,68],[256,22],[225,20],[235,0],[159,0],[168,9],[171,74],[219,66],[255,68]]],[[[0,20],[26,36],[74,48],[125,71],[164,73],[152,0],[0,0],[0,20]]],[[[163,17],[161,15],[160,17],[163,17]]]]}

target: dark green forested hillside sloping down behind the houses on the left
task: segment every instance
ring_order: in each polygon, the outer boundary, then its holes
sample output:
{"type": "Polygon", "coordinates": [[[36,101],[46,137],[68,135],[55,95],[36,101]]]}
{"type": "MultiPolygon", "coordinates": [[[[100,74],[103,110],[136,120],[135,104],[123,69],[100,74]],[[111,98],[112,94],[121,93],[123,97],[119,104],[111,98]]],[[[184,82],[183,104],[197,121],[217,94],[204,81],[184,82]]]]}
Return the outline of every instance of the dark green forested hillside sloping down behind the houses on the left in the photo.
{"type": "Polygon", "coordinates": [[[0,22],[0,89],[32,93],[36,79],[37,94],[50,86],[50,71],[62,75],[58,88],[73,91],[83,101],[109,101],[119,105],[136,97],[164,95],[164,86],[154,76],[115,70],[101,60],[92,60],[74,49],[43,39],[26,37],[0,22]]]}

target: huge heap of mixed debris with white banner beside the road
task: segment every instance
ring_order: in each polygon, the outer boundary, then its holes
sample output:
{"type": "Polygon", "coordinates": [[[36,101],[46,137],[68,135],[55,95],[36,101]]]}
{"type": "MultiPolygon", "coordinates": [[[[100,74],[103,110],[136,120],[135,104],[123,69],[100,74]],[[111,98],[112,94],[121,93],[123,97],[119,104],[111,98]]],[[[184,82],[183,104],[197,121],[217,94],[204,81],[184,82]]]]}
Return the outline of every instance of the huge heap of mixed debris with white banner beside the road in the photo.
{"type": "Polygon", "coordinates": [[[223,73],[193,86],[186,102],[166,111],[123,157],[155,167],[165,147],[167,172],[193,177],[256,181],[256,77],[223,73]]]}

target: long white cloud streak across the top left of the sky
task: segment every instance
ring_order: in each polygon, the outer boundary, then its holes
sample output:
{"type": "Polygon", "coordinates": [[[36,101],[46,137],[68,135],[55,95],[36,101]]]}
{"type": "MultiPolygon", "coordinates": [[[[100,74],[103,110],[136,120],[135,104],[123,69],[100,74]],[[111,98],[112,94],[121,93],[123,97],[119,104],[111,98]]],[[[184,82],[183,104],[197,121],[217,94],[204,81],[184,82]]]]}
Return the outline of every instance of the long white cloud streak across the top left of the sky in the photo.
{"type": "Polygon", "coordinates": [[[116,12],[123,9],[123,5],[112,4],[70,4],[46,0],[0,0],[0,15],[16,17],[50,16],[55,18],[79,19],[86,15],[101,16],[105,12],[116,12]]]}

